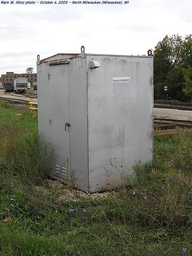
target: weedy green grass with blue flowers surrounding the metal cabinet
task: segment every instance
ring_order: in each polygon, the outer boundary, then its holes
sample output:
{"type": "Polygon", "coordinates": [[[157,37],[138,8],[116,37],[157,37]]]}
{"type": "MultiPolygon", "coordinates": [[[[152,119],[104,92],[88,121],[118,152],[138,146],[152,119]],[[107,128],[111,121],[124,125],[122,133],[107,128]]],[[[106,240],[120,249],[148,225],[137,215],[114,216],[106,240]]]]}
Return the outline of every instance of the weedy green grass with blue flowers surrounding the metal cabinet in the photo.
{"type": "Polygon", "coordinates": [[[1,103],[0,131],[0,255],[192,254],[191,131],[156,136],[154,162],[106,198],[62,202],[72,188],[46,180],[36,113],[1,103]]]}

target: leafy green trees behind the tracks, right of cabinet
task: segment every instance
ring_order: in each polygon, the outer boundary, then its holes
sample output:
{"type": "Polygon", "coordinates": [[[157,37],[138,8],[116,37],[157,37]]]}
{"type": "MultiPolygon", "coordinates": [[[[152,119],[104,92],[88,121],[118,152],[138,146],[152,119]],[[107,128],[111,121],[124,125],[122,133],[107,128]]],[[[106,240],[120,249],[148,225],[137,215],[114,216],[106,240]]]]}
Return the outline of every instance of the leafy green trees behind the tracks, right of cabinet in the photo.
{"type": "Polygon", "coordinates": [[[166,35],[154,51],[154,98],[165,100],[168,94],[168,99],[189,101],[190,94],[183,90],[186,86],[184,70],[189,67],[192,67],[191,35],[184,39],[179,35],[166,35]],[[164,85],[168,85],[167,92],[164,85]]]}

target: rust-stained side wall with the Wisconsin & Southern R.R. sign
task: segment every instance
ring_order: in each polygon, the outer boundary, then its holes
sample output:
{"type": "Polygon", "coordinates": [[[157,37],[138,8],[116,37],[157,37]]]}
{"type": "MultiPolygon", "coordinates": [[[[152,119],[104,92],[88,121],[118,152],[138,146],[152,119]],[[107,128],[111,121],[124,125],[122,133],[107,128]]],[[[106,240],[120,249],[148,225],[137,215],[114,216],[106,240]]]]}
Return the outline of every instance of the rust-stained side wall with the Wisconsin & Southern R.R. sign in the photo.
{"type": "Polygon", "coordinates": [[[92,192],[122,184],[124,177],[132,174],[135,161],[152,160],[152,62],[152,58],[142,57],[87,56],[92,192]],[[89,68],[92,58],[99,61],[100,68],[89,68]]]}

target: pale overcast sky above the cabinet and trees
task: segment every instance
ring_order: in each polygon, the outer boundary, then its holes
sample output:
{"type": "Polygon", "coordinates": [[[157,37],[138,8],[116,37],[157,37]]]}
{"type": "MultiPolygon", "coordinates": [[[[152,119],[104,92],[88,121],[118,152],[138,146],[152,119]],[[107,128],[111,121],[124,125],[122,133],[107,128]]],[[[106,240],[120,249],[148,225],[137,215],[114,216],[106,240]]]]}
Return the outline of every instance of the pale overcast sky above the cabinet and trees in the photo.
{"type": "MultiPolygon", "coordinates": [[[[58,1],[59,2],[59,1],[58,1]]],[[[1,3],[1,1],[0,1],[1,3]]],[[[25,73],[57,53],[147,54],[168,36],[192,33],[191,0],[122,5],[0,4],[0,76],[25,73]]]]}

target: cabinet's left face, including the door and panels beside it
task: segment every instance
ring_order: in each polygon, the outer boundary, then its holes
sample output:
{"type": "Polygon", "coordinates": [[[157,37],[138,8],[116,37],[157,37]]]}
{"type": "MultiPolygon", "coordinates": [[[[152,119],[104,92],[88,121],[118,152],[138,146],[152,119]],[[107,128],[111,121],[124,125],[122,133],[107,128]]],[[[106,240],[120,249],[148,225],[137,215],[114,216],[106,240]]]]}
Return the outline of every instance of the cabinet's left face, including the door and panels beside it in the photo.
{"type": "Polygon", "coordinates": [[[37,65],[37,83],[40,138],[44,142],[49,141],[50,147],[54,150],[54,162],[49,170],[49,176],[63,181],[72,177],[72,182],[77,188],[87,191],[89,186],[86,59],[77,57],[68,64],[53,66],[49,65],[51,59],[47,60],[48,62],[40,62],[37,65]],[[65,123],[68,120],[70,126],[66,128],[66,132],[65,123]],[[62,167],[67,167],[67,177],[63,175],[62,167]]]}

